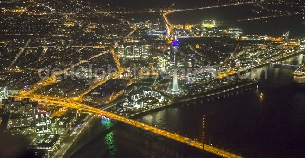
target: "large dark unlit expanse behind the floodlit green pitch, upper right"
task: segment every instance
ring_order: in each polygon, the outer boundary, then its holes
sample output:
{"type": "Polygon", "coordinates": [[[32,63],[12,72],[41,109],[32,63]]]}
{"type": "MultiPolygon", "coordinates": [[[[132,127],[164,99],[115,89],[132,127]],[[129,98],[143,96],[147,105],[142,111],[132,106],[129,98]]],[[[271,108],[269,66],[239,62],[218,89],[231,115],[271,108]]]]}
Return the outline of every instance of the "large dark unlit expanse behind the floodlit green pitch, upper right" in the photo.
{"type": "Polygon", "coordinates": [[[173,25],[202,24],[204,20],[214,19],[221,27],[239,27],[244,35],[267,35],[280,37],[283,31],[289,31],[289,38],[305,35],[303,24],[305,15],[263,18],[257,20],[237,21],[241,19],[265,17],[270,13],[256,13],[252,4],[226,6],[210,9],[199,9],[167,14],[167,19],[173,25]]]}

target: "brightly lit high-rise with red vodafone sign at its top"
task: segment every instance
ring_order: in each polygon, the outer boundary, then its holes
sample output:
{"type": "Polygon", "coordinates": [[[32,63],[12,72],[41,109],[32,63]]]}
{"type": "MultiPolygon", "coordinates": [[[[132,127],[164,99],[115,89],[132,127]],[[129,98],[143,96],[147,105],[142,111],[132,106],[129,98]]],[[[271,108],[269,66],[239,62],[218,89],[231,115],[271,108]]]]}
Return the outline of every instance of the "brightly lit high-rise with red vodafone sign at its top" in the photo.
{"type": "Polygon", "coordinates": [[[38,109],[36,112],[36,132],[38,136],[51,133],[51,112],[45,109],[38,109]]]}

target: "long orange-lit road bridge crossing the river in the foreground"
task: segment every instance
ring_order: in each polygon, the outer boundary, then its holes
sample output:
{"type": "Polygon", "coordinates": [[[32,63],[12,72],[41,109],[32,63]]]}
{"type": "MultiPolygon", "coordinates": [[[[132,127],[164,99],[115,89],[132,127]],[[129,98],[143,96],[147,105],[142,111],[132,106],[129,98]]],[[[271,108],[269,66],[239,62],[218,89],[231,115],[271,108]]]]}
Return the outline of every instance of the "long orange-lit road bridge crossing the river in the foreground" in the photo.
{"type": "MultiPolygon", "coordinates": [[[[10,96],[10,97],[20,98],[18,96],[10,96]]],[[[114,114],[111,112],[107,112],[107,111],[104,111],[104,110],[101,110],[98,108],[93,108],[89,105],[77,103],[77,102],[74,102],[74,101],[66,99],[66,98],[49,97],[49,96],[41,96],[41,95],[34,95],[34,96],[28,97],[28,98],[30,98],[31,100],[34,100],[34,101],[39,101],[40,103],[48,104],[48,105],[56,104],[56,105],[60,105],[60,106],[67,107],[67,108],[75,108],[75,109],[84,110],[84,111],[92,112],[92,113],[99,114],[99,115],[104,115],[109,118],[113,118],[117,121],[124,122],[124,123],[130,124],[132,126],[142,128],[144,130],[148,130],[150,132],[165,136],[165,137],[173,139],[175,141],[179,141],[181,143],[185,143],[187,145],[191,145],[196,148],[203,149],[203,143],[201,143],[199,141],[194,141],[190,138],[181,136],[179,134],[174,134],[169,131],[150,126],[148,124],[144,124],[144,123],[135,121],[133,119],[128,119],[126,117],[123,117],[123,116],[120,116],[120,115],[117,115],[117,114],[114,114]]],[[[204,150],[207,152],[216,154],[218,156],[222,156],[222,157],[242,158],[241,156],[232,154],[230,152],[227,152],[227,151],[224,151],[224,150],[221,150],[221,149],[218,149],[216,147],[206,145],[206,144],[204,144],[204,150]]]]}

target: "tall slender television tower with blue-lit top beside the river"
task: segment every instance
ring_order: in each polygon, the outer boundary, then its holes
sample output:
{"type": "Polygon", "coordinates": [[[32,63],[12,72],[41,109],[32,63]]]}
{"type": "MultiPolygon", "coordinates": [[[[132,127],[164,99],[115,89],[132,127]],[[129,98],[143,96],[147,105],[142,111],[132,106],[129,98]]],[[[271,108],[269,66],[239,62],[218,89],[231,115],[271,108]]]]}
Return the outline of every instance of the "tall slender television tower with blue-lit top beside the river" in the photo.
{"type": "Polygon", "coordinates": [[[178,89],[178,74],[177,74],[177,51],[179,48],[179,42],[177,40],[177,35],[175,35],[175,39],[172,41],[171,47],[174,50],[173,55],[173,88],[171,90],[168,90],[168,93],[177,95],[180,93],[180,90],[178,89]]]}

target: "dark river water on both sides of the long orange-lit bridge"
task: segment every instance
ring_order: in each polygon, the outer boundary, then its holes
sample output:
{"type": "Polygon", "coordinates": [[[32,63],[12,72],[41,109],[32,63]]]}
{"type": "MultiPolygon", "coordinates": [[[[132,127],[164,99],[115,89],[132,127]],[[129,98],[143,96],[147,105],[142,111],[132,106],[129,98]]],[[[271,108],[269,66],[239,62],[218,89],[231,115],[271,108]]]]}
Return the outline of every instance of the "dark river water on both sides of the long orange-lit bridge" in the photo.
{"type": "MultiPolygon", "coordinates": [[[[281,60],[286,64],[300,64],[301,61],[301,55],[281,60]]],[[[178,103],[174,108],[151,113],[139,120],[201,140],[202,120],[206,115],[206,144],[210,140],[213,146],[241,153],[244,157],[305,157],[305,92],[280,87],[305,79],[294,78],[291,75],[294,68],[274,68],[272,65],[263,68],[267,69],[263,84],[221,94],[210,101],[201,98],[178,103]]],[[[109,132],[100,132],[98,129],[102,126],[95,121],[80,138],[88,140],[78,142],[79,146],[84,146],[70,157],[217,157],[124,123],[117,123],[109,132]]]]}

